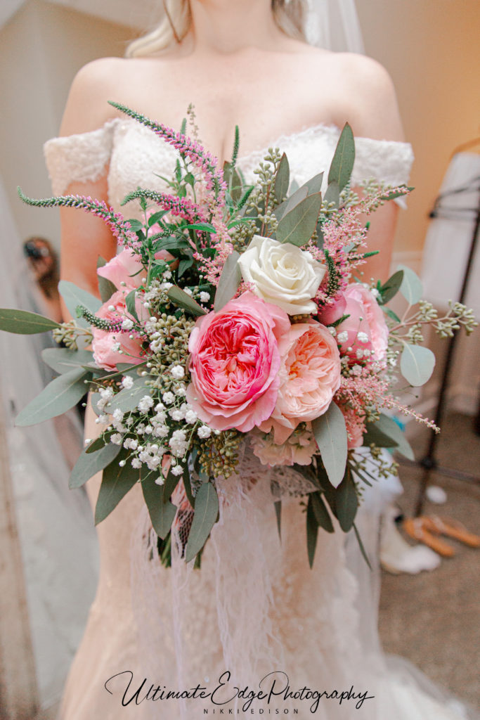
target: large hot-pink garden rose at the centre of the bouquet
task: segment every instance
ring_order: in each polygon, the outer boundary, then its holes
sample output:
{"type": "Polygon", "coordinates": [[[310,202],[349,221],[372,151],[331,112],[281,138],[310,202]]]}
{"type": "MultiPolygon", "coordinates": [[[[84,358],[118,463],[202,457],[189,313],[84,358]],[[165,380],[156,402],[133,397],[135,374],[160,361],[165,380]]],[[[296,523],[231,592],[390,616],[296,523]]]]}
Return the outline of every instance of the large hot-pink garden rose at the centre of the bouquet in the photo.
{"type": "Polygon", "coordinates": [[[204,423],[246,433],[270,417],[280,382],[278,340],[289,327],[284,310],[252,292],[196,321],[186,398],[204,423]]]}

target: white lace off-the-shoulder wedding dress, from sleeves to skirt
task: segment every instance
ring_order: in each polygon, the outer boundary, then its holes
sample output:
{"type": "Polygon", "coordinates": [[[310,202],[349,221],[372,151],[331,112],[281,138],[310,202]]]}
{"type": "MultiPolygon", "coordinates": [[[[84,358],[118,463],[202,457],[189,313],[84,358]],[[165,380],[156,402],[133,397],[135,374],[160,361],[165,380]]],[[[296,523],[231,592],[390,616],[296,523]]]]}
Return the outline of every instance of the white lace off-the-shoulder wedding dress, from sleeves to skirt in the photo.
{"type": "MultiPolygon", "coordinates": [[[[329,167],[338,135],[336,127],[317,125],[271,145],[286,151],[291,174],[301,184],[329,167]]],[[[407,143],[357,138],[356,150],[353,181],[407,181],[412,163],[407,143]]],[[[263,154],[258,150],[240,159],[247,179],[263,154]]],[[[71,181],[94,181],[108,166],[109,200],[117,210],[138,185],[163,189],[158,175],[170,175],[175,162],[173,150],[150,130],[121,119],[83,135],[50,140],[45,155],[55,194],[66,192],[71,181]]],[[[133,210],[131,206],[127,217],[133,210]]],[[[93,427],[87,429],[90,437],[93,427]]],[[[200,571],[181,562],[171,569],[160,566],[139,487],[99,525],[99,588],[65,688],[61,720],[196,720],[214,711],[218,715],[220,708],[222,714],[230,709],[240,717],[267,716],[276,709],[324,720],[467,717],[458,703],[440,698],[438,691],[434,699],[422,675],[414,679],[406,665],[392,667],[382,654],[376,629],[378,572],[368,570],[359,557],[355,538],[320,530],[310,570],[305,516],[299,498],[288,498],[279,541],[273,479],[281,483],[283,476],[266,472],[245,453],[239,476],[228,481],[230,499],[200,571]],[[160,698],[160,690],[196,685],[212,692],[227,670],[231,680],[222,699],[232,699],[224,706],[215,706],[211,698],[160,698]],[[306,686],[330,697],[323,694],[315,712],[316,701],[314,696],[307,699],[307,690],[296,697],[274,696],[270,703],[257,699],[246,709],[245,699],[233,699],[235,685],[248,684],[258,693],[262,678],[272,672],[277,675],[263,680],[263,689],[270,689],[275,679],[274,690],[280,691],[288,675],[291,690],[306,686]],[[358,693],[370,699],[361,702],[358,693]]],[[[92,501],[98,487],[98,477],[89,482],[92,501]]],[[[379,508],[372,497],[361,511],[359,529],[373,557],[379,508]]],[[[219,694],[214,698],[220,699],[219,694]]]]}

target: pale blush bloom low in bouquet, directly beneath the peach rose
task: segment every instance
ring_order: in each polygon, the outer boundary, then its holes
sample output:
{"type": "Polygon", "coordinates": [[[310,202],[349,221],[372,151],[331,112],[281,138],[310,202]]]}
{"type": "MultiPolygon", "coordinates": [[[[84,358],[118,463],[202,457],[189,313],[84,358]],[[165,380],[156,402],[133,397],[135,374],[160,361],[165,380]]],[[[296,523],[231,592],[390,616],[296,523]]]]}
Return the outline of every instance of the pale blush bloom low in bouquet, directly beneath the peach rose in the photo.
{"type": "Polygon", "coordinates": [[[272,433],[255,433],[252,448],[253,454],[263,465],[309,465],[317,450],[317,443],[311,429],[307,429],[292,433],[281,445],[276,444],[272,433]]]}

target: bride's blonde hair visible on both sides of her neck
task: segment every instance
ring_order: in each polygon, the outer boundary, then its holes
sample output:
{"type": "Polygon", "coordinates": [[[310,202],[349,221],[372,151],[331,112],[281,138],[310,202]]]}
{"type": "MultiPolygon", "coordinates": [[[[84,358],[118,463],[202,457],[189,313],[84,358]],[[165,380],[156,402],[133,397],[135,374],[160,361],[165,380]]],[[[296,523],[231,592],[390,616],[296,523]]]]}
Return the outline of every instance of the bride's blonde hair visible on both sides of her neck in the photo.
{"type": "MultiPolygon", "coordinates": [[[[286,35],[304,40],[305,0],[271,0],[273,16],[286,35]]],[[[126,58],[139,58],[181,42],[191,27],[189,0],[163,0],[166,17],[155,30],[130,42],[126,58]]]]}

